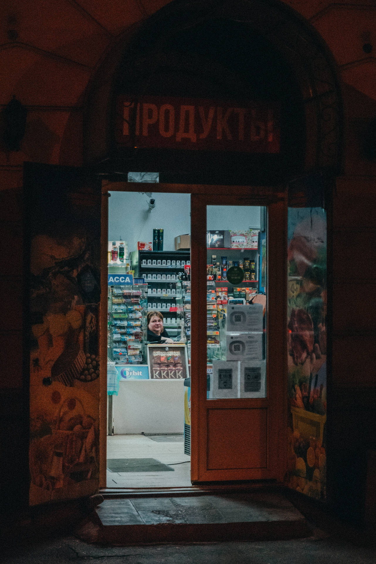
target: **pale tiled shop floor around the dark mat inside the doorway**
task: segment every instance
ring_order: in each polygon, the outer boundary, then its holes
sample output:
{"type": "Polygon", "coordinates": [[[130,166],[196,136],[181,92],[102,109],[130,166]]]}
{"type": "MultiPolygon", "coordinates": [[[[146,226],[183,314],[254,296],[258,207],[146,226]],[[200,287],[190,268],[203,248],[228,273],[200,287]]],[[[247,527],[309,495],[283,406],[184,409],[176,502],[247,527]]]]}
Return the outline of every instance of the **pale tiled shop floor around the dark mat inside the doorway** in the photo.
{"type": "Polygon", "coordinates": [[[109,472],[107,487],[185,487],[190,486],[190,457],[184,454],[184,443],[157,442],[145,435],[107,437],[107,458],[153,458],[171,465],[174,472],[109,472]]]}

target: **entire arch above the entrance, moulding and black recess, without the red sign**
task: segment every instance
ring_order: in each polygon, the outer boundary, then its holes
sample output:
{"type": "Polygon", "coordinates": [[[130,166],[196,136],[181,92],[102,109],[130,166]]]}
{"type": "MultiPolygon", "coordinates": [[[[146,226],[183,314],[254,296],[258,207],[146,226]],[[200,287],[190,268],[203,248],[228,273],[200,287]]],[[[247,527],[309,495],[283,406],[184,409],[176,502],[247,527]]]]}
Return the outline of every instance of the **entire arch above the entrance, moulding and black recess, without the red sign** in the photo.
{"type": "Polygon", "coordinates": [[[87,165],[109,180],[125,178],[132,164],[133,170],[160,171],[165,183],[215,186],[221,179],[225,186],[272,186],[270,195],[278,184],[308,171],[335,174],[341,102],[330,55],[316,34],[279,4],[229,2],[206,9],[193,2],[187,15],[186,6],[173,2],[129,37],[125,49],[111,54],[98,74],[88,96],[85,151],[87,165]],[[235,38],[237,51],[231,51],[235,38]],[[210,150],[118,146],[115,99],[126,93],[137,101],[145,92],[194,98],[217,98],[220,92],[225,100],[255,96],[280,103],[281,151],[244,158],[236,151],[218,156],[210,150]]]}

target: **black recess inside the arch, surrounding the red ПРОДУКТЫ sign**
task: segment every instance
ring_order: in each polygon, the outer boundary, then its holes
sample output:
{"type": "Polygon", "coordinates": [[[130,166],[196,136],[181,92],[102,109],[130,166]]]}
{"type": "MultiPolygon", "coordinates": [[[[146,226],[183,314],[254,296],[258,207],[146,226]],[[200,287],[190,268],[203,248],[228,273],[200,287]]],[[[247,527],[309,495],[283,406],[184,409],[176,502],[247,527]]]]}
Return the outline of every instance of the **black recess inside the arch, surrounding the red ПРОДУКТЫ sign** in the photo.
{"type": "MultiPolygon", "coordinates": [[[[292,69],[248,23],[204,17],[164,29],[151,21],[129,46],[114,96],[147,95],[276,102],[281,112],[279,154],[229,151],[124,149],[111,140],[117,165],[156,170],[177,183],[275,184],[302,170],[305,126],[301,94],[292,69]]],[[[114,105],[113,105],[114,107],[114,105]]],[[[115,121],[115,116],[113,116],[115,121]]]]}

